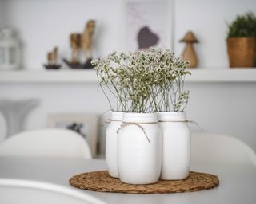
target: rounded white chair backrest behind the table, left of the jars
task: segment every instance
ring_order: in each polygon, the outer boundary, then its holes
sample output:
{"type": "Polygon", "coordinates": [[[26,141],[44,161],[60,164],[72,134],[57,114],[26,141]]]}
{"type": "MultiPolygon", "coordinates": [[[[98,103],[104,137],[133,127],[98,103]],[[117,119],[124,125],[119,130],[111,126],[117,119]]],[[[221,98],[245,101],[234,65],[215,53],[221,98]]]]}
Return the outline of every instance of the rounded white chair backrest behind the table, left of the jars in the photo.
{"type": "Polygon", "coordinates": [[[0,144],[0,156],[91,159],[86,140],[75,131],[50,128],[23,131],[0,144]]]}

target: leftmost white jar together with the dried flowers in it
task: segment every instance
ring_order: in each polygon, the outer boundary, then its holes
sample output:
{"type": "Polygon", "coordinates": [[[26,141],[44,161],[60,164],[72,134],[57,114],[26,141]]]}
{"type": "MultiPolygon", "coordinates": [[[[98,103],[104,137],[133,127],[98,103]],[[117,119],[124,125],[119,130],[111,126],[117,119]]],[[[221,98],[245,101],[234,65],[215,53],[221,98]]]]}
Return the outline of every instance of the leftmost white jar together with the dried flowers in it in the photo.
{"type": "Polygon", "coordinates": [[[126,101],[122,87],[118,83],[117,53],[110,53],[106,58],[91,61],[98,77],[98,84],[110,104],[111,118],[106,128],[106,164],[111,177],[119,178],[118,174],[118,129],[122,125],[122,115],[126,101]],[[114,101],[110,100],[114,96],[114,101]]]}

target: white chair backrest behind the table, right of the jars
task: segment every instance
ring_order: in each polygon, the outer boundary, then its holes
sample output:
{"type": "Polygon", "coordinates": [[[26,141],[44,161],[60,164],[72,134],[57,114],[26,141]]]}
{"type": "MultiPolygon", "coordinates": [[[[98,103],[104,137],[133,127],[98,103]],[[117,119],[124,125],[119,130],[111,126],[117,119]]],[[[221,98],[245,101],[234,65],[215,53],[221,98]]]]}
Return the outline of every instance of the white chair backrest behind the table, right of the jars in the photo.
{"type": "Polygon", "coordinates": [[[235,163],[256,166],[255,152],[239,139],[210,133],[194,133],[191,139],[192,163],[235,163]]]}

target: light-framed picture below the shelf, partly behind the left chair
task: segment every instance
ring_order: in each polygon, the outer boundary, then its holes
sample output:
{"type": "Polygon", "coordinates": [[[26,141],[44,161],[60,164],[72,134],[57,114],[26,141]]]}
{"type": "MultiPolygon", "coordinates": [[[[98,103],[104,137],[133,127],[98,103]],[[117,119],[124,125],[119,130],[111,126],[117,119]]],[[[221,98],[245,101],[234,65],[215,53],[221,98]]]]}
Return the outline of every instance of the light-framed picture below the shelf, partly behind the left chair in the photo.
{"type": "Polygon", "coordinates": [[[93,156],[97,155],[98,147],[98,116],[87,114],[50,114],[49,128],[66,128],[76,131],[90,146],[93,156]]]}

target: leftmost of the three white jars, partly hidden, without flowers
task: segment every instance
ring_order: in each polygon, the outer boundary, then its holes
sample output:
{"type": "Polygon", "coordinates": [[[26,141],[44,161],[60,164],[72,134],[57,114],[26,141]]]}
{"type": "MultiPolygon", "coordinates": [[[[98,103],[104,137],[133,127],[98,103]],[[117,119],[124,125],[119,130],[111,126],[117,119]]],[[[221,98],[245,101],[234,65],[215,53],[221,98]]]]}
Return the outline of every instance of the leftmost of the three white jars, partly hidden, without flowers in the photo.
{"type": "Polygon", "coordinates": [[[118,129],[122,125],[123,112],[112,112],[109,126],[106,128],[106,165],[109,175],[118,175],[118,129]]]}

